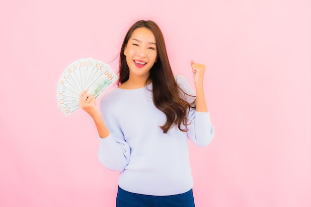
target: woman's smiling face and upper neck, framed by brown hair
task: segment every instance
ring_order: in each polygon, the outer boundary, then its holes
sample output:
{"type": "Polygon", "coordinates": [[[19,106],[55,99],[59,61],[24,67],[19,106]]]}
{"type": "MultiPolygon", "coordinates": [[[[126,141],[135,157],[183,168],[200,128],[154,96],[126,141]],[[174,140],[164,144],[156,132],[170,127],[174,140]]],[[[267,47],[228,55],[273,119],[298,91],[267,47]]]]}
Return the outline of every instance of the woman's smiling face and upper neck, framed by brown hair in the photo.
{"type": "Polygon", "coordinates": [[[130,69],[130,77],[149,77],[150,69],[156,62],[156,38],[153,32],[145,27],[133,31],[123,54],[130,69]]]}

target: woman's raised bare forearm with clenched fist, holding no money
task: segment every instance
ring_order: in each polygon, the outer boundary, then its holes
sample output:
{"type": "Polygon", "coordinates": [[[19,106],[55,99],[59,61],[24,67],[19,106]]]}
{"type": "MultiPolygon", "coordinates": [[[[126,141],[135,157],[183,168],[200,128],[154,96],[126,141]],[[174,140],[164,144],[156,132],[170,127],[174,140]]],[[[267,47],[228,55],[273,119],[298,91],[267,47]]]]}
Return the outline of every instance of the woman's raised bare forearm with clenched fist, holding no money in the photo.
{"type": "Polygon", "coordinates": [[[191,61],[191,67],[193,72],[193,81],[196,90],[196,111],[197,112],[208,112],[206,102],[205,102],[205,95],[203,89],[203,76],[205,71],[205,66],[194,63],[191,61]]]}

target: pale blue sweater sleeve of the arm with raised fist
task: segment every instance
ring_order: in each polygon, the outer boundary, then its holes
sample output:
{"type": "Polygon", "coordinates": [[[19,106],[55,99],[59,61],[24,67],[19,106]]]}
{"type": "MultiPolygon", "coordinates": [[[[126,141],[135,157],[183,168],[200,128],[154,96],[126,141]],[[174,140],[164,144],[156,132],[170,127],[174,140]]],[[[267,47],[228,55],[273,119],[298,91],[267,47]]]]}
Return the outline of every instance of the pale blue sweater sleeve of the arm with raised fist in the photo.
{"type": "MultiPolygon", "coordinates": [[[[195,100],[195,97],[193,97],[195,93],[188,80],[180,74],[175,75],[175,78],[181,89],[190,95],[185,95],[185,99],[191,104],[195,100]]],[[[205,147],[212,141],[214,137],[214,127],[211,123],[209,112],[197,112],[195,108],[190,108],[188,124],[187,135],[197,146],[205,147]]]]}

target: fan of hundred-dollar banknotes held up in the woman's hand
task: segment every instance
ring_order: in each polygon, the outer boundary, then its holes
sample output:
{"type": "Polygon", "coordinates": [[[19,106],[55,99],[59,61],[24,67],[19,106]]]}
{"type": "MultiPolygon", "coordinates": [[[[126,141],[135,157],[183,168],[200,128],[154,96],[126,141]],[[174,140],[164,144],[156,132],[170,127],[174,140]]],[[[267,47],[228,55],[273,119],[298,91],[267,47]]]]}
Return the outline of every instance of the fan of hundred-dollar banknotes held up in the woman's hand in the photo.
{"type": "Polygon", "coordinates": [[[57,84],[58,105],[66,116],[77,111],[79,94],[89,89],[97,98],[115,80],[117,75],[109,65],[89,59],[80,59],[68,66],[61,75],[57,84]]]}

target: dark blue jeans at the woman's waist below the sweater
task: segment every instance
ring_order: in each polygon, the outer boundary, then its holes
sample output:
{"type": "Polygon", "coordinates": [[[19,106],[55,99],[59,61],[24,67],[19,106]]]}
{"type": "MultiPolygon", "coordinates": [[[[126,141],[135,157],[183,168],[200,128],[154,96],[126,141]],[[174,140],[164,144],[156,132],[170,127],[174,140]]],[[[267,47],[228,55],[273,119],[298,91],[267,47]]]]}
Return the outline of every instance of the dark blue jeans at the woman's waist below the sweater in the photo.
{"type": "Polygon", "coordinates": [[[150,196],[131,193],[118,187],[116,207],[195,207],[192,189],[172,196],[150,196]]]}

